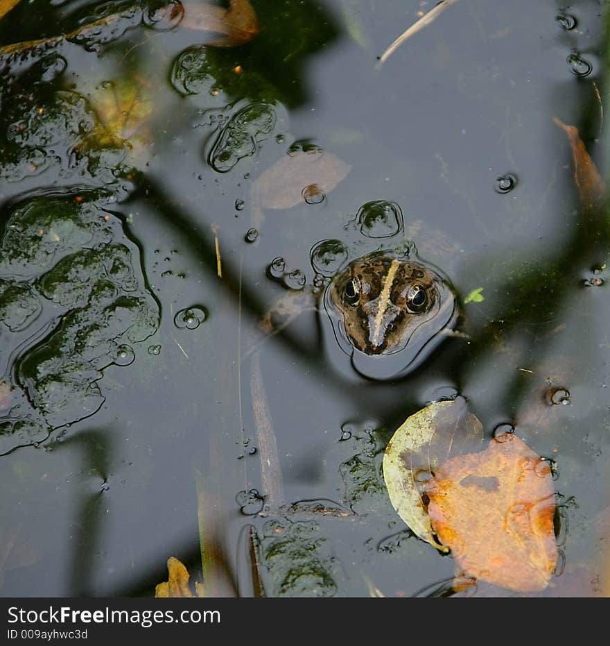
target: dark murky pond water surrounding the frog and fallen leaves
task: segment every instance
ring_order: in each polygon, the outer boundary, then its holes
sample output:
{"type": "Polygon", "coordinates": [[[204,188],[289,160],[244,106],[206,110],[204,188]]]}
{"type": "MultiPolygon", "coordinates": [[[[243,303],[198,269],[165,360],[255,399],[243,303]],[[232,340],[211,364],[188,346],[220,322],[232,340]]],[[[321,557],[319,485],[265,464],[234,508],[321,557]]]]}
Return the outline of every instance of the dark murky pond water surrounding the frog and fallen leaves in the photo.
{"type": "Polygon", "coordinates": [[[153,595],[169,556],[200,578],[200,536],[213,594],[435,593],[453,559],[381,459],[460,395],[553,461],[561,556],[530,594],[600,594],[610,229],[552,118],[603,171],[603,3],[461,0],[381,67],[433,3],[252,0],[224,46],[201,6],[0,19],[0,593],[153,595]],[[379,249],[460,318],[370,379],[320,296],[379,249]]]}

